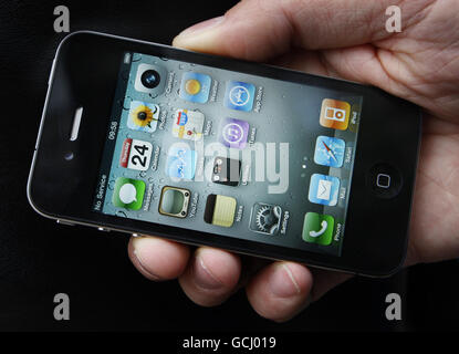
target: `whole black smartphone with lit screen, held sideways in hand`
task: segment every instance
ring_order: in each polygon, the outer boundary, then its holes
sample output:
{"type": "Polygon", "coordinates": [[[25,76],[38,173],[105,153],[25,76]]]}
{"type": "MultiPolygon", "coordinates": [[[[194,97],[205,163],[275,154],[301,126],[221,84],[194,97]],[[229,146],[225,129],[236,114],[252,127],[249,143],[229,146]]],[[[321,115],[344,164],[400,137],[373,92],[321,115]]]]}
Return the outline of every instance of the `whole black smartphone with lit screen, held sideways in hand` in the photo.
{"type": "Polygon", "coordinates": [[[75,32],[28,196],[63,223],[382,277],[405,258],[420,122],[375,87],[75,32]]]}

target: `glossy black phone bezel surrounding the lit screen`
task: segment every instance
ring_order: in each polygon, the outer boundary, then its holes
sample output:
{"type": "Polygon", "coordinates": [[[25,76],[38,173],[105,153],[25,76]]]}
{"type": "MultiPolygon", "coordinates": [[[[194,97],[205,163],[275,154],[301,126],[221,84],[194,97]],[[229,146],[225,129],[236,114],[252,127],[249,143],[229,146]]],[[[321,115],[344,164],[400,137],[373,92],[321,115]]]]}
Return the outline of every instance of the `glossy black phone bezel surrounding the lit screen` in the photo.
{"type": "MultiPolygon", "coordinates": [[[[264,64],[178,50],[95,32],[75,32],[60,44],[35,147],[28,196],[40,214],[129,233],[166,237],[271,259],[286,259],[347,272],[383,277],[403,263],[420,142],[420,110],[378,88],[264,64]],[[236,72],[264,75],[362,95],[342,256],[219,237],[92,211],[114,92],[125,52],[139,52],[236,72]],[[79,139],[70,142],[73,113],[84,107],[79,139]],[[90,118],[91,117],[91,118],[90,118]],[[90,148],[88,148],[90,147],[90,148]],[[73,159],[66,160],[67,153],[73,159]],[[368,181],[376,164],[403,179],[398,194],[382,198],[368,181]]],[[[218,231],[216,229],[216,231],[218,231]]]]}

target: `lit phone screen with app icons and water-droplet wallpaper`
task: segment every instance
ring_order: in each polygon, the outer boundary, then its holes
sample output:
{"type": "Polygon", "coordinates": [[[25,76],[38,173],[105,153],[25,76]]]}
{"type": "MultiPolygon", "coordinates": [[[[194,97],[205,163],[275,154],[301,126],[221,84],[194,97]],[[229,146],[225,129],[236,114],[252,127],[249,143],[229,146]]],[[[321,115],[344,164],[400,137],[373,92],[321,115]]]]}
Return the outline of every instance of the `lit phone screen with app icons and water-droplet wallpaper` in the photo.
{"type": "Polygon", "coordinates": [[[93,211],[340,256],[362,96],[142,53],[93,211]]]}

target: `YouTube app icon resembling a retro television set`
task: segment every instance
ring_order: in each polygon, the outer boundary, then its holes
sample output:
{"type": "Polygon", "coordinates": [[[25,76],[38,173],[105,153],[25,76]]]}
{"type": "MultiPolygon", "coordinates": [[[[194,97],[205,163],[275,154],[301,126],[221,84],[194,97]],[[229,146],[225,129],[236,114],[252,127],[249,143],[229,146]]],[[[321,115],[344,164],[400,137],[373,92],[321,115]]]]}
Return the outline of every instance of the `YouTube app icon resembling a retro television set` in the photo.
{"type": "Polygon", "coordinates": [[[185,218],[188,214],[190,199],[188,189],[166,186],[159,199],[159,214],[168,217],[185,218]]]}

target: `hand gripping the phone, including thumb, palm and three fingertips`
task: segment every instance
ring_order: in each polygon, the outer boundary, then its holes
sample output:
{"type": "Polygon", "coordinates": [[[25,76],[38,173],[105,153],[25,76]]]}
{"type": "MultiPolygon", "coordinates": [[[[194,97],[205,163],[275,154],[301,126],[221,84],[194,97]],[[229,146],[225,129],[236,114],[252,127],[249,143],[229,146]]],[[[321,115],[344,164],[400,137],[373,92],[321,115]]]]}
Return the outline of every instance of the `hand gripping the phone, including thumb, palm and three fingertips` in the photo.
{"type": "MultiPolygon", "coordinates": [[[[424,108],[424,135],[406,266],[459,257],[459,1],[247,0],[181,32],[174,45],[378,86],[424,108]],[[401,32],[385,30],[388,6],[401,32]],[[241,35],[242,33],[242,35],[241,35]]],[[[196,303],[246,288],[262,316],[282,322],[351,275],[267,262],[159,238],[132,239],[148,279],[178,278],[196,303]]]]}

